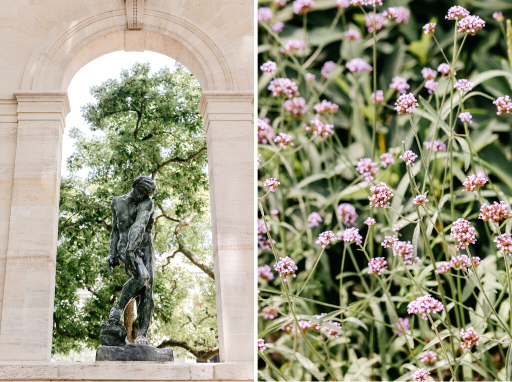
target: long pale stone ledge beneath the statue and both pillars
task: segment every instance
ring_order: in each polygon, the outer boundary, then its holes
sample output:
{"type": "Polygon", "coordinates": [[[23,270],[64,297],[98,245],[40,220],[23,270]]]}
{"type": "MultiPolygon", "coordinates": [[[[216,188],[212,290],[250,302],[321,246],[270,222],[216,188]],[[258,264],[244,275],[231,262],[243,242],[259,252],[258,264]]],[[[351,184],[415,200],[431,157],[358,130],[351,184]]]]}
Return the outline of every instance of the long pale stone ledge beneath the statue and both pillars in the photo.
{"type": "Polygon", "coordinates": [[[0,361],[0,381],[252,381],[252,362],[169,364],[98,361],[52,363],[0,361]]]}

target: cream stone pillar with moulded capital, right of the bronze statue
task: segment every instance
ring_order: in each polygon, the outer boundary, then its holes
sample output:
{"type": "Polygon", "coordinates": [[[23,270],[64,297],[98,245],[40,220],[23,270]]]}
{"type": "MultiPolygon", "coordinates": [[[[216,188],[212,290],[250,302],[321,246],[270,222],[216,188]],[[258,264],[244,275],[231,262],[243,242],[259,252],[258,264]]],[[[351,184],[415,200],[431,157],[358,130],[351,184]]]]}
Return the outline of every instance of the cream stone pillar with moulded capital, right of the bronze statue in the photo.
{"type": "Polygon", "coordinates": [[[219,347],[222,362],[253,361],[254,95],[204,91],[219,347]]]}

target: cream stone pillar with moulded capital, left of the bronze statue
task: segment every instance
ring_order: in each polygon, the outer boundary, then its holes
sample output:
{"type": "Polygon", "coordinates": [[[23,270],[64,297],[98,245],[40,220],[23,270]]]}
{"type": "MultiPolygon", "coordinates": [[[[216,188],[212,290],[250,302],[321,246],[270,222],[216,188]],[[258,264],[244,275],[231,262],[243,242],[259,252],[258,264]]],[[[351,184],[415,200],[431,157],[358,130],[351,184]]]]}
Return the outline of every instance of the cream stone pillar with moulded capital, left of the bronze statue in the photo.
{"type": "Polygon", "coordinates": [[[65,91],[15,92],[14,181],[0,359],[50,361],[65,91]]]}

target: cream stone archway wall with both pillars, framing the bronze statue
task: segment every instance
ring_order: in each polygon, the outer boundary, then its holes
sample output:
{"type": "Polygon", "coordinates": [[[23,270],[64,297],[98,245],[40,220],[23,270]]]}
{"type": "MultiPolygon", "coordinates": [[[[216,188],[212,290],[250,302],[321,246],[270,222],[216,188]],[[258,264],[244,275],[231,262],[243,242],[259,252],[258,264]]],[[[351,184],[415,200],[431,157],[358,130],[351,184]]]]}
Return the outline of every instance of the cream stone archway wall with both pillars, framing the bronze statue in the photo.
{"type": "Polygon", "coordinates": [[[201,83],[220,356],[252,362],[252,1],[29,0],[4,8],[15,21],[7,17],[12,28],[0,29],[9,41],[0,59],[0,379],[9,361],[50,360],[66,89],[83,65],[116,50],[167,54],[201,83]]]}

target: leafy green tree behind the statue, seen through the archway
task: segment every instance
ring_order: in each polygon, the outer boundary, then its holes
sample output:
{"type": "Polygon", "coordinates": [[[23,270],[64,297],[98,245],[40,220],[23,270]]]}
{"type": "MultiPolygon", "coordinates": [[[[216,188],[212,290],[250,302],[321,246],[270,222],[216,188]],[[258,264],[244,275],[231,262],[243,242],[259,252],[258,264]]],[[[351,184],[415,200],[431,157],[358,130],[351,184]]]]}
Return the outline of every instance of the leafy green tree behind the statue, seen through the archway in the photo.
{"type": "MultiPolygon", "coordinates": [[[[82,108],[95,133],[71,129],[76,150],[60,191],[54,312],[54,353],[99,346],[99,328],[126,281],[123,267],[108,274],[110,201],[140,174],[157,183],[155,315],[150,340],[181,347],[200,359],[218,354],[211,255],[206,139],[198,112],[201,88],[181,64],[150,73],[149,64],[91,88],[82,108]],[[88,169],[86,179],[76,173],[88,169]],[[177,264],[176,256],[186,258],[177,264]],[[187,266],[188,264],[188,266],[187,266]],[[191,268],[190,265],[194,267],[191,268]],[[206,273],[198,274],[200,268],[206,273]],[[91,296],[80,299],[85,289],[91,296]]],[[[135,302],[126,308],[129,339],[137,334],[135,302]]]]}

